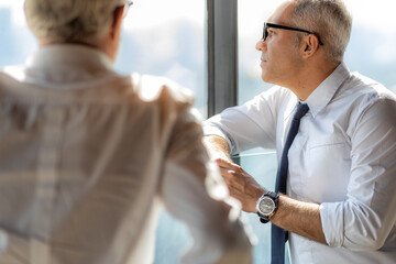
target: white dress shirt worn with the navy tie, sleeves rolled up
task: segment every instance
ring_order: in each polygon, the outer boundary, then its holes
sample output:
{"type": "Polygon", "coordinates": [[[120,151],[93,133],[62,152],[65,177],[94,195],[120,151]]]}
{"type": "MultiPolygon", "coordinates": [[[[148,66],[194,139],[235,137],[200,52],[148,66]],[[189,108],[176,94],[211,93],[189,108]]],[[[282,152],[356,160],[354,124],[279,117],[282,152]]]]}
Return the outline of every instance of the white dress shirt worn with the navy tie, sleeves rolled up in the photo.
{"type": "MultiPolygon", "coordinates": [[[[262,146],[279,158],[297,103],[290,90],[273,87],[212,117],[204,131],[224,138],[232,154],[262,146]]],[[[306,103],[287,193],[321,204],[328,245],[292,233],[293,264],[396,263],[395,95],[341,64],[306,103]]]]}

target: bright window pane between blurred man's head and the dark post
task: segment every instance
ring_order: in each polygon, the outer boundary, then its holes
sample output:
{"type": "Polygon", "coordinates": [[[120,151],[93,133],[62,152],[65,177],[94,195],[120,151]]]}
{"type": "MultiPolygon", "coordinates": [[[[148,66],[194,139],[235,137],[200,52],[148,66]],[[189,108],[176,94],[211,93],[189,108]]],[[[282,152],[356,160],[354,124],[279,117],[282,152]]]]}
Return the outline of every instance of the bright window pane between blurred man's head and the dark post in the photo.
{"type": "Polygon", "coordinates": [[[205,1],[135,0],[124,21],[116,68],[170,78],[196,96],[206,117],[205,1]]]}

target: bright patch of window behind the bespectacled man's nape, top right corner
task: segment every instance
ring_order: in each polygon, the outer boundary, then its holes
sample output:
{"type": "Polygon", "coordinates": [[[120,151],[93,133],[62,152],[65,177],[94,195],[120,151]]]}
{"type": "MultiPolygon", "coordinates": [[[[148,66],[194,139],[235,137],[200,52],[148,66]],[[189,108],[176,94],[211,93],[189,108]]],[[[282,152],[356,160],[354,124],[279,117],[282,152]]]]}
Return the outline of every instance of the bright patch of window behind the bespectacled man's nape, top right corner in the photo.
{"type": "Polygon", "coordinates": [[[348,0],[353,15],[344,61],[348,67],[396,92],[395,4],[386,0],[348,0]]]}

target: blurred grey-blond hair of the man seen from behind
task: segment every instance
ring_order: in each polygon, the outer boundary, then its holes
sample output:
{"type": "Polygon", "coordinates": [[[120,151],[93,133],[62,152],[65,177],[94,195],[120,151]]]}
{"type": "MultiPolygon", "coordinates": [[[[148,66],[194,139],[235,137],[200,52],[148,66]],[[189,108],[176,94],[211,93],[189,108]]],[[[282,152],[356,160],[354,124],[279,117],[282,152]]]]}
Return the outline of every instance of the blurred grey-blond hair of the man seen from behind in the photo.
{"type": "Polygon", "coordinates": [[[25,0],[28,22],[38,40],[92,43],[102,37],[124,0],[25,0]]]}

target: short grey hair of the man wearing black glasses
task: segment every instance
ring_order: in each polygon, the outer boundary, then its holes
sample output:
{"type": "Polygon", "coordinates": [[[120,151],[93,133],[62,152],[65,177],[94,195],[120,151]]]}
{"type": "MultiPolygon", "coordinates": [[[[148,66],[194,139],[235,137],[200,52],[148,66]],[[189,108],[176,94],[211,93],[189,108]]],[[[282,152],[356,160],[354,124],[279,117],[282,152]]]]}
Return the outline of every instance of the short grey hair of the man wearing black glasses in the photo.
{"type": "MultiPolygon", "coordinates": [[[[315,32],[324,44],[327,61],[343,59],[352,29],[352,16],[342,0],[293,0],[296,4],[290,22],[294,26],[315,32]]],[[[298,34],[298,43],[302,34],[298,34]]]]}

